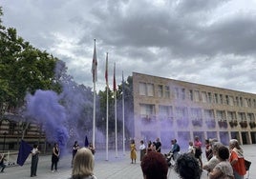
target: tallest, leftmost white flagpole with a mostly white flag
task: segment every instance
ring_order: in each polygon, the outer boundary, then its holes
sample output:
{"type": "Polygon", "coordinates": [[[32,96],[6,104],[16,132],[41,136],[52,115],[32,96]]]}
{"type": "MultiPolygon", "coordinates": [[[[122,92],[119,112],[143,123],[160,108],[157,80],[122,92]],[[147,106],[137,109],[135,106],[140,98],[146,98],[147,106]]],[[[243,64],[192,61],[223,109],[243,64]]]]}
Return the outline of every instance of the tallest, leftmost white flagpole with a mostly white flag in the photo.
{"type": "Polygon", "coordinates": [[[93,81],[94,81],[94,118],[93,118],[93,146],[96,146],[96,39],[95,39],[95,50],[93,57],[93,81]]]}

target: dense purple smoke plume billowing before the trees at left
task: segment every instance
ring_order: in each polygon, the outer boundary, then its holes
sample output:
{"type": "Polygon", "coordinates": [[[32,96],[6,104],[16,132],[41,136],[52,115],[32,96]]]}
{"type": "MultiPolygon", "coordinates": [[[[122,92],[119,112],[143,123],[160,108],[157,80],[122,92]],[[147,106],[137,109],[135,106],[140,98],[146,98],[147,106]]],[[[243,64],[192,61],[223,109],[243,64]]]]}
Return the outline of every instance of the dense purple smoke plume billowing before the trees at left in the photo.
{"type": "Polygon", "coordinates": [[[57,142],[60,149],[65,149],[69,134],[66,124],[65,108],[58,101],[53,90],[36,90],[27,96],[27,115],[38,124],[42,124],[48,140],[57,142]]]}

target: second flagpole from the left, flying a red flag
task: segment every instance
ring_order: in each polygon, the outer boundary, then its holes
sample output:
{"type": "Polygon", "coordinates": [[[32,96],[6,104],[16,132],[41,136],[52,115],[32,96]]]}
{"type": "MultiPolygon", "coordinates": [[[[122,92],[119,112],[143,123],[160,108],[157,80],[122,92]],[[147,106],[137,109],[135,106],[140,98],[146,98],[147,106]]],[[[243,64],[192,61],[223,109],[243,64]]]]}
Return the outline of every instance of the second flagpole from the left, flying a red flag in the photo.
{"type": "Polygon", "coordinates": [[[108,52],[106,57],[105,79],[107,86],[107,109],[106,109],[106,160],[109,160],[109,82],[108,82],[108,52]]]}

